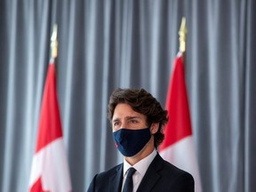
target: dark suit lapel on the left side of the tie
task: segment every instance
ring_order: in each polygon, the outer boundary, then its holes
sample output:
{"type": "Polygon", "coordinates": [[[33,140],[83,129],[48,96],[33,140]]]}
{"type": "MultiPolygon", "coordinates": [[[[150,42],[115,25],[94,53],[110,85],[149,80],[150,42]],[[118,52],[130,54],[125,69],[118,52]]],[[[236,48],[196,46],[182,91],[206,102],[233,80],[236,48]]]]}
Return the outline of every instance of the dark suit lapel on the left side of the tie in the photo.
{"type": "Polygon", "coordinates": [[[109,192],[120,192],[123,183],[123,166],[124,164],[120,164],[116,168],[116,173],[109,178],[109,192]]]}

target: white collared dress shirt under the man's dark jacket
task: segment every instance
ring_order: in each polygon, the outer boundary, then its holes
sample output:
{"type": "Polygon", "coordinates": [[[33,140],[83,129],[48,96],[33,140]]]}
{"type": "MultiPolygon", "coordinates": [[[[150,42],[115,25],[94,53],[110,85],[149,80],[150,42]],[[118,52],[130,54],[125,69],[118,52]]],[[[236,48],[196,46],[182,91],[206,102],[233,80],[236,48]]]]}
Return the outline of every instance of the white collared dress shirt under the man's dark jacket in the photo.
{"type": "Polygon", "coordinates": [[[141,159],[137,164],[134,164],[133,166],[128,162],[126,162],[124,159],[124,177],[123,177],[124,179],[123,179],[122,191],[123,191],[124,183],[126,180],[127,170],[130,167],[133,167],[136,169],[136,172],[132,175],[133,192],[135,192],[139,188],[140,182],[143,179],[145,173],[147,172],[149,164],[151,164],[153,159],[156,157],[156,154],[157,154],[156,149],[154,149],[154,151],[150,155],[141,159]]]}

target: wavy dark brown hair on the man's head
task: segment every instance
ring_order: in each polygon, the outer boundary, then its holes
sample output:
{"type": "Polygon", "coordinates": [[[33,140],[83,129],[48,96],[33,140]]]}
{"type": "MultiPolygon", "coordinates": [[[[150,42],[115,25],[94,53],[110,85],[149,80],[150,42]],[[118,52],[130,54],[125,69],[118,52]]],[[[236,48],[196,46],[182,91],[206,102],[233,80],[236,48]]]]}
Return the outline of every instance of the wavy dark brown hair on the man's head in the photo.
{"type": "Polygon", "coordinates": [[[119,103],[126,103],[132,109],[147,117],[147,125],[159,123],[158,131],[154,134],[154,145],[157,148],[164,140],[164,125],[168,122],[167,110],[149,92],[144,89],[117,88],[110,96],[108,103],[108,119],[112,121],[115,108],[119,103]]]}

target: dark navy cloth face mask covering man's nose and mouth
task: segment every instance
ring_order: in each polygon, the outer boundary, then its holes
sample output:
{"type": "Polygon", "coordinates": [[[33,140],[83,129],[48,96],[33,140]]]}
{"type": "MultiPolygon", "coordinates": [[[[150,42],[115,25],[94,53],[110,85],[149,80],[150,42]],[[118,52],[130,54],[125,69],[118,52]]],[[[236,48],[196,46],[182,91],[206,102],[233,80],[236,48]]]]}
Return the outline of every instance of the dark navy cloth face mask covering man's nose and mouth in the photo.
{"type": "Polygon", "coordinates": [[[113,132],[116,148],[123,156],[135,156],[148,143],[151,138],[149,128],[130,130],[122,128],[113,132]]]}

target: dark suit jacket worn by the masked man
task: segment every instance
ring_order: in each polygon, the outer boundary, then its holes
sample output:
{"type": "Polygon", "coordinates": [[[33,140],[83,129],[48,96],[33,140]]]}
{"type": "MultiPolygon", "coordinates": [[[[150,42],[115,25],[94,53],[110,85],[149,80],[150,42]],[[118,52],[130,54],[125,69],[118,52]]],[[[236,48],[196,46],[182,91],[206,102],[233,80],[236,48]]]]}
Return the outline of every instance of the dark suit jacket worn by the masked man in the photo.
{"type": "MultiPolygon", "coordinates": [[[[118,164],[107,172],[95,175],[88,192],[120,192],[123,182],[123,165],[118,164]]],[[[184,172],[164,161],[157,154],[149,165],[137,191],[190,192],[194,191],[194,185],[194,179],[188,172],[184,172]]]]}

